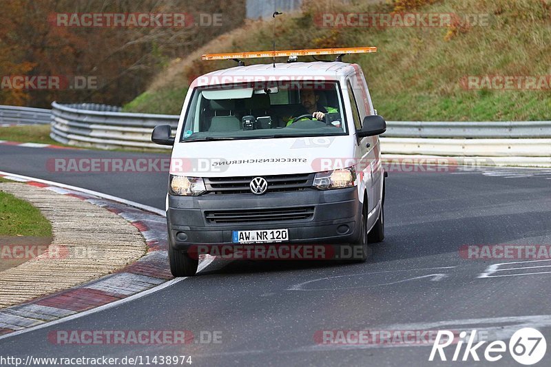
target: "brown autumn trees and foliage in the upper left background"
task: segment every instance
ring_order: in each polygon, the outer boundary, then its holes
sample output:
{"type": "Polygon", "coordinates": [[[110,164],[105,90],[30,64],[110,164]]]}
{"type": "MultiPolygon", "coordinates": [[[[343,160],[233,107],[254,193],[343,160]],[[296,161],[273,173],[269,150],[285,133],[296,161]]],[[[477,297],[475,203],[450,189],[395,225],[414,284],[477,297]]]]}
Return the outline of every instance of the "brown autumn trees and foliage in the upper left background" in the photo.
{"type": "Polygon", "coordinates": [[[0,78],[92,77],[83,90],[21,90],[3,85],[0,104],[49,107],[52,101],[122,105],[145,90],[171,59],[185,57],[215,36],[236,28],[245,1],[2,0],[0,78]],[[222,14],[220,26],[79,28],[52,24],[56,13],[222,14]]]}

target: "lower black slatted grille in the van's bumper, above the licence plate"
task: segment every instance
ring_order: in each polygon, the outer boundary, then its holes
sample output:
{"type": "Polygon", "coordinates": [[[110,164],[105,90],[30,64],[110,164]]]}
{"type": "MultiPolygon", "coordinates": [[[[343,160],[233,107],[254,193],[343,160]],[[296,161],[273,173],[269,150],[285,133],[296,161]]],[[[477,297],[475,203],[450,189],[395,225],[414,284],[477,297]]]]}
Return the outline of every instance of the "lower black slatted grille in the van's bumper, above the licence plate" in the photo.
{"type": "Polygon", "coordinates": [[[314,215],[314,207],[288,207],[273,209],[231,209],[205,211],[209,223],[280,222],[282,220],[306,220],[314,215]]]}

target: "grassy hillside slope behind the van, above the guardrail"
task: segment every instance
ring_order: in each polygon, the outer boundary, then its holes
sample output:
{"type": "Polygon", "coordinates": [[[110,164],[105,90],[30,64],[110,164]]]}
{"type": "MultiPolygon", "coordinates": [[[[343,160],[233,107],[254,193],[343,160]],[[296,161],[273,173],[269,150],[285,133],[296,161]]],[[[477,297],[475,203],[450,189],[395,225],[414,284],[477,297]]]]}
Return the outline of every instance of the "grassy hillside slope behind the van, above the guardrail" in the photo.
{"type": "MultiPolygon", "coordinates": [[[[470,90],[465,80],[468,76],[548,76],[550,14],[550,0],[304,1],[302,13],[278,18],[275,35],[280,50],[377,46],[376,54],[349,55],[344,60],[360,64],[373,105],[387,120],[548,120],[549,87],[470,90]],[[322,14],[391,14],[398,3],[425,3],[428,5],[406,11],[453,13],[459,20],[437,28],[320,25],[322,14]],[[469,14],[480,15],[484,23],[468,23],[469,14]]],[[[174,60],[125,109],[179,114],[182,91],[194,77],[235,65],[233,61],[200,61],[201,54],[270,50],[273,25],[271,18],[247,21],[242,28],[218,36],[187,58],[174,60]]],[[[262,62],[271,60],[247,64],[262,62]]]]}

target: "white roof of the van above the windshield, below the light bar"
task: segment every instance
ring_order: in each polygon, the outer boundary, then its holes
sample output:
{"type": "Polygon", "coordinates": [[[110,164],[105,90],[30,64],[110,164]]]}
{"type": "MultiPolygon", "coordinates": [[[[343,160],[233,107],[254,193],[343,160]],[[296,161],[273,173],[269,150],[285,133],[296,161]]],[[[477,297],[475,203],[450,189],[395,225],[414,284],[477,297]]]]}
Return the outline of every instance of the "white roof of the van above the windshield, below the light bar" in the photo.
{"type": "Polygon", "coordinates": [[[353,64],[338,61],[314,61],[310,63],[272,63],[229,67],[209,72],[205,76],[322,76],[329,80],[338,80],[354,72],[353,64]]]}

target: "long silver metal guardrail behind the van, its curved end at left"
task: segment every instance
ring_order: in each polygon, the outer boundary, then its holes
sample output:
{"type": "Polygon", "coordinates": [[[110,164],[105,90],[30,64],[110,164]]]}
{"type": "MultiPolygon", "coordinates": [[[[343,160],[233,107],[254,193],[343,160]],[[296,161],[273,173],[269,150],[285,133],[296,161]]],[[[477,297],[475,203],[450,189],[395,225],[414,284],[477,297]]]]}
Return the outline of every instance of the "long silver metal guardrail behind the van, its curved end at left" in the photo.
{"type": "MultiPolygon", "coordinates": [[[[89,106],[52,103],[50,136],[69,145],[170,149],[152,143],[151,132],[163,124],[175,130],[179,116],[121,113],[105,110],[107,107],[83,109],[89,106]]],[[[384,154],[509,157],[523,158],[523,162],[540,162],[543,157],[547,162],[551,121],[388,121],[381,146],[384,154]]]]}

